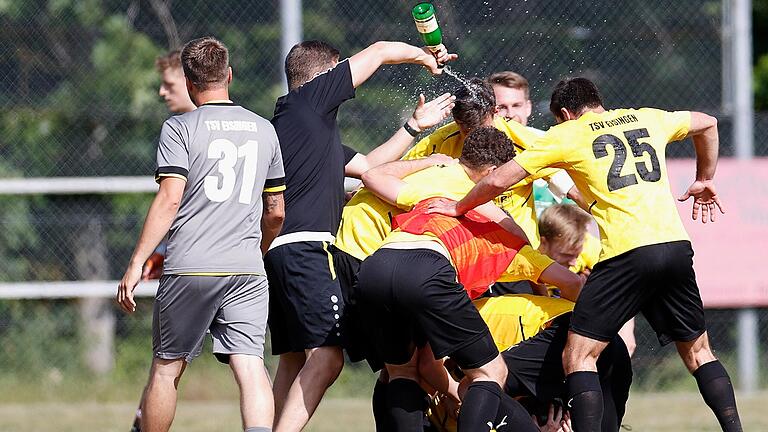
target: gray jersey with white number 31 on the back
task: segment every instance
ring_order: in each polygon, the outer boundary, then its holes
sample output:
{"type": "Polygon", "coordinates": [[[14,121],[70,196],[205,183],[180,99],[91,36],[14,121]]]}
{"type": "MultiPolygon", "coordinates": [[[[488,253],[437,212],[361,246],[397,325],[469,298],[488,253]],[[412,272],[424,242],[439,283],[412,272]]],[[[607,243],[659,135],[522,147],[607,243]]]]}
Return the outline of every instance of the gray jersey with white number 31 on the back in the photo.
{"type": "Polygon", "coordinates": [[[187,181],[168,233],[165,274],[264,274],[262,193],[285,189],[269,121],[211,103],[163,124],[156,178],[187,181]]]}

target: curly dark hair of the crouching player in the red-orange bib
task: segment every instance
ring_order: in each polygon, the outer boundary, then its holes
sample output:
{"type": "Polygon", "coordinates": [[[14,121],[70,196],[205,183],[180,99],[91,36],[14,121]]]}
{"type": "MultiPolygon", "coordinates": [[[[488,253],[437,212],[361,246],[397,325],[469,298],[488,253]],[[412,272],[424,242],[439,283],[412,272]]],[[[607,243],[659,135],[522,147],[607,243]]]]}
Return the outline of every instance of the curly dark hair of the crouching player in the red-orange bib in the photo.
{"type": "Polygon", "coordinates": [[[515,157],[515,145],[507,135],[495,127],[479,127],[467,135],[459,161],[477,170],[495,165],[501,166],[515,157]]]}

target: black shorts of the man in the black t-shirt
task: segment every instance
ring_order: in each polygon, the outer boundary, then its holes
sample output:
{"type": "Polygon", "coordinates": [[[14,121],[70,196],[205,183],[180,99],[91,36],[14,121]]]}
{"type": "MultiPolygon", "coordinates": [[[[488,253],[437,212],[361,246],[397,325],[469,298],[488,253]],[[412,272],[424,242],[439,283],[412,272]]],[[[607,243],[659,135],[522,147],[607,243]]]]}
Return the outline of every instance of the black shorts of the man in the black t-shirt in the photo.
{"type": "Polygon", "coordinates": [[[326,242],[278,246],[264,257],[272,353],[341,346],[344,299],[326,242]]]}

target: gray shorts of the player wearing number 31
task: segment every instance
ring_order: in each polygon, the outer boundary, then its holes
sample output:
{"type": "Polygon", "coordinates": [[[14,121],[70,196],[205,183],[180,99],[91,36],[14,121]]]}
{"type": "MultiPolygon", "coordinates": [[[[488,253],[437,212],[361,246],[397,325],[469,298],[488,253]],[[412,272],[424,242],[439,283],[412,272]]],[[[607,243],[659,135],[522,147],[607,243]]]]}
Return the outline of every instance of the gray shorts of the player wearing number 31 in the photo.
{"type": "Polygon", "coordinates": [[[152,316],[152,351],[190,362],[210,330],[220,361],[227,363],[230,354],[264,358],[268,309],[266,276],[164,275],[152,316]]]}

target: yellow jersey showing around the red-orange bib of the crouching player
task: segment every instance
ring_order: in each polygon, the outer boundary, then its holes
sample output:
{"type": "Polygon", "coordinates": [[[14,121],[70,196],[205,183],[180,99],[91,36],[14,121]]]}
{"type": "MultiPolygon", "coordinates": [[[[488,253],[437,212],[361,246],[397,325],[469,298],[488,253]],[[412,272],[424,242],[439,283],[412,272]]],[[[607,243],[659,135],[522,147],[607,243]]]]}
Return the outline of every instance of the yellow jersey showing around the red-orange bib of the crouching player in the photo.
{"type": "MultiPolygon", "coordinates": [[[[405,177],[403,181],[406,185],[397,194],[397,205],[405,211],[411,210],[416,204],[429,198],[444,197],[460,200],[475,186],[475,183],[460,164],[427,168],[405,177]]],[[[386,236],[383,244],[424,240],[440,242],[437,236],[428,233],[417,235],[394,230],[386,236]]],[[[548,256],[526,245],[517,252],[499,280],[532,280],[537,282],[541,273],[553,262],[548,256]]]]}

